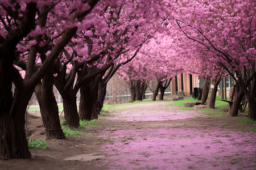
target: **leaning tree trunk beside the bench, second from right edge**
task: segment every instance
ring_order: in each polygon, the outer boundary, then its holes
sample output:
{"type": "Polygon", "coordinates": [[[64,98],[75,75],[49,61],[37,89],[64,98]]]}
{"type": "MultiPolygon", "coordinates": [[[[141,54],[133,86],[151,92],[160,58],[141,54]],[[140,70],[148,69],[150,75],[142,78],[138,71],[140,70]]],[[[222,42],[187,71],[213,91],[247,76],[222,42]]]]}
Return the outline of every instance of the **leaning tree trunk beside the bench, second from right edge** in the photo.
{"type": "Polygon", "coordinates": [[[243,99],[243,96],[244,96],[244,92],[240,89],[240,87],[238,86],[238,84],[236,84],[236,88],[235,88],[235,96],[234,96],[234,102],[232,104],[232,107],[230,109],[230,112],[229,112],[229,116],[237,116],[238,115],[238,112],[239,112],[239,109],[240,109],[240,103],[243,99]]]}

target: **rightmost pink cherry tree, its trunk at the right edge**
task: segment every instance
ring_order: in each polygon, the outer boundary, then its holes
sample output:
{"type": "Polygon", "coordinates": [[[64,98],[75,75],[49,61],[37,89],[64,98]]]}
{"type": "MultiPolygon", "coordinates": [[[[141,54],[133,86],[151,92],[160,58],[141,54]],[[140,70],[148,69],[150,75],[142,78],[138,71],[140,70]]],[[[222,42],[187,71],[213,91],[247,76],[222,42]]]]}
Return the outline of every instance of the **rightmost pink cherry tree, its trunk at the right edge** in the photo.
{"type": "Polygon", "coordinates": [[[209,52],[208,60],[232,76],[255,114],[255,3],[253,1],[177,1],[173,23],[209,52]],[[182,11],[182,13],[181,13],[182,11]]]}

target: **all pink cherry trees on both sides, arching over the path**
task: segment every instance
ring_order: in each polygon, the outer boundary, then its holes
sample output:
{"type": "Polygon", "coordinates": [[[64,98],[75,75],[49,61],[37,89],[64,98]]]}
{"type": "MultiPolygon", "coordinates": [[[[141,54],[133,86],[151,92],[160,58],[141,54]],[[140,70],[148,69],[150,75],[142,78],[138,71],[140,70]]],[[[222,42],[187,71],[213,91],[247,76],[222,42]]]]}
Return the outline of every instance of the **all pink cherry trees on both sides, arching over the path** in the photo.
{"type": "MultiPolygon", "coordinates": [[[[53,86],[63,98],[65,124],[77,128],[79,120],[97,118],[106,84],[118,69],[129,81],[132,100],[143,99],[152,80],[158,80],[156,96],[181,71],[211,80],[216,96],[220,78],[230,75],[238,87],[235,100],[240,103],[245,94],[249,118],[256,119],[252,0],[26,0],[0,5],[0,147],[5,158],[31,157],[24,114],[34,91],[47,138],[64,138],[53,86]]],[[[210,95],[210,107],[214,101],[210,95]]]]}

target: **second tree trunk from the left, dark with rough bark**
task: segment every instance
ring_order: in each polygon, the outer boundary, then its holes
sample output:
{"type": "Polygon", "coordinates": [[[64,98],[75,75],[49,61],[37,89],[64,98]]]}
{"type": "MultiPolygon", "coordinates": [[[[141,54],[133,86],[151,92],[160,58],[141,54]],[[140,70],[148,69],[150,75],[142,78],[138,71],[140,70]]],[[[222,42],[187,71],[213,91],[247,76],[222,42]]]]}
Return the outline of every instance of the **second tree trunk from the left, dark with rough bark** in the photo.
{"type": "Polygon", "coordinates": [[[63,139],[65,135],[61,129],[59,109],[53,94],[53,75],[48,73],[42,79],[42,83],[36,86],[36,98],[40,106],[40,112],[47,139],[63,139]]]}

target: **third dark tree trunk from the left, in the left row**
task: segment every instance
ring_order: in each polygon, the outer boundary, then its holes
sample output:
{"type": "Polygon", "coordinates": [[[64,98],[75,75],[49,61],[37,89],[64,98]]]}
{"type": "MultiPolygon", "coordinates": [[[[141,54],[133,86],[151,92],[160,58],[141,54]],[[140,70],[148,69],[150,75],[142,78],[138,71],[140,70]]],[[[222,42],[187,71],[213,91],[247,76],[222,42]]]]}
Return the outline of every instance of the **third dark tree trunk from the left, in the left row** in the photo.
{"type": "Polygon", "coordinates": [[[61,92],[63,99],[63,111],[65,118],[65,125],[73,128],[79,128],[79,116],[77,113],[76,94],[72,90],[61,92]]]}

